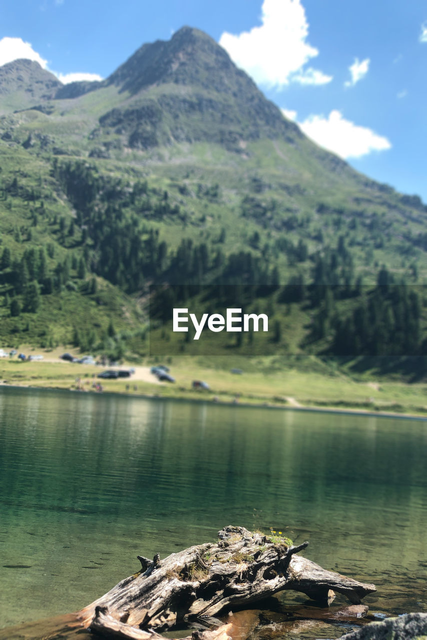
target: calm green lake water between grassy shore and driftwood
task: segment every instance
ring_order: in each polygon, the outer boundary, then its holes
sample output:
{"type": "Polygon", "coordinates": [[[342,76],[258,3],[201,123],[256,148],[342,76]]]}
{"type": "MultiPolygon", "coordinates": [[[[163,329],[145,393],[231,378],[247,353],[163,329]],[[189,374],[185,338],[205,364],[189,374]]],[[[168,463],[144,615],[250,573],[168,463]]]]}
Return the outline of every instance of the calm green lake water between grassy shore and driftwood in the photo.
{"type": "Polygon", "coordinates": [[[228,524],[309,540],[378,616],[427,611],[426,449],[424,420],[2,387],[0,627],[228,524]]]}

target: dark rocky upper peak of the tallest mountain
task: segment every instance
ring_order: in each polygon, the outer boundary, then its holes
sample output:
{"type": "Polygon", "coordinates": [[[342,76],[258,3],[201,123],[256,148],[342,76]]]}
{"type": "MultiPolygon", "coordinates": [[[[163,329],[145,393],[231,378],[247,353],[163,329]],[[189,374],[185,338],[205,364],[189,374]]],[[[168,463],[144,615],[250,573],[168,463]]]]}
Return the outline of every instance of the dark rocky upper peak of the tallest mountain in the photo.
{"type": "Polygon", "coordinates": [[[204,140],[239,150],[247,140],[301,136],[228,53],[192,27],[144,44],[106,83],[130,97],[99,122],[128,136],[130,147],[204,140]]]}

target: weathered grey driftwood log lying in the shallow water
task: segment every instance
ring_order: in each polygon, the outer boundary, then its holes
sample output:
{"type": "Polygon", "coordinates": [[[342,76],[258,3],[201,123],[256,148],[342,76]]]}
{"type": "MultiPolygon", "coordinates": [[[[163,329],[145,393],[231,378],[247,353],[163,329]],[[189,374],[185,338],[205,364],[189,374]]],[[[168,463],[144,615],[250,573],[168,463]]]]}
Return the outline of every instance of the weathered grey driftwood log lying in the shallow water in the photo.
{"type": "MultiPolygon", "coordinates": [[[[301,591],[329,605],[335,593],[352,604],[376,591],[322,569],[286,538],[224,527],[217,543],[189,547],[160,560],[138,556],[140,570],[78,612],[81,625],[104,637],[154,640],[183,621],[205,620],[283,591],[301,591]]],[[[232,624],[193,632],[193,640],[226,640],[232,624]]]]}

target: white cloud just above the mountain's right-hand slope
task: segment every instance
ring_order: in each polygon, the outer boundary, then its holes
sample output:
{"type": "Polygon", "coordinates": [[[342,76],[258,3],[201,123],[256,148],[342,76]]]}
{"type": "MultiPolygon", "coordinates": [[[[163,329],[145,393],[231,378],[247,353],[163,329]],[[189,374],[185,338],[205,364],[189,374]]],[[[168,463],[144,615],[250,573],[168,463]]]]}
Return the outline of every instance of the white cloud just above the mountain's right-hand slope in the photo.
{"type": "Polygon", "coordinates": [[[343,118],[337,109],[331,111],[328,118],[312,115],[298,124],[306,136],[342,158],[358,158],[392,146],[387,138],[379,136],[372,129],[360,127],[343,118]]]}

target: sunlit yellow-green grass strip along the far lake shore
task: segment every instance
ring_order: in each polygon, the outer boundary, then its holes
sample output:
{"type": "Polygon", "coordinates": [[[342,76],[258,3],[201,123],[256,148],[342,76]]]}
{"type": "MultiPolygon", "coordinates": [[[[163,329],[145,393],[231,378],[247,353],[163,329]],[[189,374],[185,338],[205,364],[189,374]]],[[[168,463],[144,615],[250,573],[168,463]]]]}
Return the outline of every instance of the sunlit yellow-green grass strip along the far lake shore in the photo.
{"type": "MultiPolygon", "coordinates": [[[[29,351],[29,349],[27,349],[29,351]]],[[[38,353],[43,353],[38,351],[38,353]]],[[[171,374],[176,383],[158,383],[149,373],[149,363],[137,367],[132,378],[105,380],[96,365],[82,365],[59,360],[61,349],[44,352],[42,362],[0,360],[0,381],[8,385],[38,388],[82,387],[94,391],[101,383],[106,392],[132,396],[156,396],[206,399],[219,402],[268,404],[269,406],[312,406],[318,408],[353,408],[375,412],[427,415],[427,385],[402,381],[355,381],[341,372],[299,371],[296,368],[274,369],[267,360],[247,360],[242,374],[231,373],[235,362],[212,358],[201,362],[190,356],[174,357],[171,374]],[[216,362],[216,368],[215,368],[216,362]],[[80,378],[80,381],[78,379],[80,378]],[[193,380],[203,380],[209,390],[194,390],[193,380]]],[[[239,363],[240,365],[240,363],[239,363]]]]}

